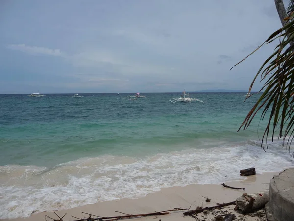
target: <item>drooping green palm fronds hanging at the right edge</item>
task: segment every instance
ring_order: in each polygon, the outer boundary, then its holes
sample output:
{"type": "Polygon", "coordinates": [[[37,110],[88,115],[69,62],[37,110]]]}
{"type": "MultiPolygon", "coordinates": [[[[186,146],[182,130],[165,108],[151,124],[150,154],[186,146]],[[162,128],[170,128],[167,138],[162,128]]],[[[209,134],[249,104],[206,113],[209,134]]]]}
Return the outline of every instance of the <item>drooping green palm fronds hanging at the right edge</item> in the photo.
{"type": "MultiPolygon", "coordinates": [[[[294,0],[291,3],[293,3],[294,7],[294,0]]],[[[286,24],[283,28],[271,34],[261,46],[245,57],[246,59],[263,45],[272,43],[277,38],[279,39],[275,51],[262,64],[249,87],[250,93],[257,77],[261,76],[261,82],[265,83],[260,92],[264,92],[249,111],[238,130],[247,129],[256,114],[261,112],[261,120],[268,118],[262,137],[262,148],[264,148],[264,143],[268,148],[269,136],[273,141],[276,133],[278,133],[279,138],[283,137],[283,145],[286,144],[286,149],[288,148],[289,151],[291,142],[294,139],[294,45],[289,44],[294,41],[293,18],[294,12],[286,18],[286,24]]],[[[292,155],[294,156],[294,152],[292,155]]]]}

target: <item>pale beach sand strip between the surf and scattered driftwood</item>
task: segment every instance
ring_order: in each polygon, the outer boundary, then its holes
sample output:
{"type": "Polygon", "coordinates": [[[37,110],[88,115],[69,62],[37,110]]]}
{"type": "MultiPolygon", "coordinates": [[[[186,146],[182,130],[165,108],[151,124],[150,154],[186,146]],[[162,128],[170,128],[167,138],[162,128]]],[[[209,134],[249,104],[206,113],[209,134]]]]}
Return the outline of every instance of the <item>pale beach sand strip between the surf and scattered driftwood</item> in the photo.
{"type": "MultiPolygon", "coordinates": [[[[147,196],[139,199],[120,199],[106,202],[98,202],[91,205],[85,205],[76,207],[68,210],[59,210],[55,211],[59,216],[63,216],[65,213],[64,221],[76,220],[71,217],[71,215],[84,218],[87,215],[83,215],[81,212],[92,213],[98,216],[119,216],[123,215],[115,211],[120,211],[127,214],[143,214],[143,213],[152,213],[154,211],[164,211],[170,210],[173,208],[190,208],[196,209],[197,206],[210,207],[216,205],[216,203],[227,203],[234,201],[237,197],[241,196],[243,193],[254,193],[257,191],[263,191],[269,188],[270,179],[273,175],[278,173],[264,173],[257,174],[254,176],[246,177],[244,180],[227,182],[226,184],[233,187],[242,187],[246,190],[233,190],[230,188],[225,188],[221,184],[192,184],[185,187],[171,187],[164,188],[159,192],[150,193],[147,196]],[[205,202],[205,198],[208,197],[211,199],[211,202],[205,202]]],[[[251,217],[249,215],[244,216],[241,211],[233,211],[234,206],[228,206],[222,208],[221,210],[224,213],[234,212],[237,215],[235,220],[244,220],[244,221],[260,221],[266,220],[265,218],[259,218],[258,216],[251,217]],[[225,211],[228,212],[225,212],[225,211]]],[[[215,210],[221,214],[221,210],[215,210]]],[[[150,216],[150,217],[141,217],[134,218],[131,220],[134,221],[195,221],[197,219],[186,216],[183,217],[184,211],[175,211],[171,212],[168,215],[162,216],[150,216]]],[[[261,210],[260,212],[263,212],[261,210]]],[[[214,216],[210,212],[208,215],[200,213],[197,215],[198,220],[214,220],[214,216]],[[203,216],[203,217],[202,217],[203,216]],[[205,219],[204,219],[205,218],[205,219]]],[[[54,212],[42,212],[34,213],[28,218],[18,218],[13,219],[13,221],[41,221],[45,219],[45,215],[48,215],[51,218],[58,219],[54,212]]],[[[50,219],[47,218],[47,221],[50,219]]],[[[12,221],[12,220],[9,220],[12,221]]]]}

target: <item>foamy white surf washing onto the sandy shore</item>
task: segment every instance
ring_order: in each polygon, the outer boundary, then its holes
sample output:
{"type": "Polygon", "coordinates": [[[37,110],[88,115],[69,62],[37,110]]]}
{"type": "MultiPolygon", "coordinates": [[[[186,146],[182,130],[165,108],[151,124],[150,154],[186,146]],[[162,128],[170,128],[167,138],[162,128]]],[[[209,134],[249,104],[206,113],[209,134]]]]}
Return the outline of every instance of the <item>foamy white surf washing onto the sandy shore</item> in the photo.
{"type": "Polygon", "coordinates": [[[257,173],[294,166],[281,143],[219,142],[212,148],[188,149],[135,158],[104,155],[56,165],[0,166],[0,218],[30,216],[121,198],[139,198],[161,188],[189,184],[222,183],[242,179],[242,168],[257,173]],[[230,165],[230,166],[228,166],[230,165]]]}

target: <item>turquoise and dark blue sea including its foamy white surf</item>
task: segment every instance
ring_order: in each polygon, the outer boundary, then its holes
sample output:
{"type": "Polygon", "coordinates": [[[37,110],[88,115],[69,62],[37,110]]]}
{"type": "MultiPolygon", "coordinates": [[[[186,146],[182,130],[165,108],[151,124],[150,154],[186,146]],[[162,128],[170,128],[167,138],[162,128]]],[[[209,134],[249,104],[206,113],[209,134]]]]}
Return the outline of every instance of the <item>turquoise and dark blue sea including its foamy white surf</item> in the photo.
{"type": "Polygon", "coordinates": [[[82,95],[0,95],[1,219],[294,166],[280,140],[261,149],[266,122],[237,132],[258,94],[190,93],[204,103],[175,104],[180,93],[82,95]]]}

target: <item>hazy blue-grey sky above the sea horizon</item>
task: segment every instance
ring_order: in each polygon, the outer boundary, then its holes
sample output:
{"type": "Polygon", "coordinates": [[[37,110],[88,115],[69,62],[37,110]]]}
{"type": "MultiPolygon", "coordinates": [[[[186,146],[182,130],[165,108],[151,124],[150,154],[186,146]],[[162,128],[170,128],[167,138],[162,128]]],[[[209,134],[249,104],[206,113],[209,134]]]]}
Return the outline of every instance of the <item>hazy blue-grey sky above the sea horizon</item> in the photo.
{"type": "Polygon", "coordinates": [[[279,28],[274,0],[1,0],[0,93],[248,90],[279,28]]]}

